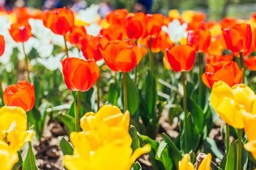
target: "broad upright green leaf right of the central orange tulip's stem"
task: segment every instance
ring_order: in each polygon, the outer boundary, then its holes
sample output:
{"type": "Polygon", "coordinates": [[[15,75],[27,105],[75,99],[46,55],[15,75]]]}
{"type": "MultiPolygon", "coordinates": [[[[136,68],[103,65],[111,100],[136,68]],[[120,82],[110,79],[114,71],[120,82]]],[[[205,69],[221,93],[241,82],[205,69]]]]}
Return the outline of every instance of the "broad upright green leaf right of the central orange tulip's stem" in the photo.
{"type": "MultiPolygon", "coordinates": [[[[139,108],[139,91],[138,91],[138,88],[135,86],[134,81],[130,78],[128,73],[126,73],[126,87],[127,87],[127,107],[128,107],[128,111],[131,114],[131,117],[133,117],[135,112],[139,108]]],[[[122,90],[122,96],[123,96],[123,90],[122,90]]],[[[122,97],[122,103],[123,103],[123,97],[122,97]]]]}

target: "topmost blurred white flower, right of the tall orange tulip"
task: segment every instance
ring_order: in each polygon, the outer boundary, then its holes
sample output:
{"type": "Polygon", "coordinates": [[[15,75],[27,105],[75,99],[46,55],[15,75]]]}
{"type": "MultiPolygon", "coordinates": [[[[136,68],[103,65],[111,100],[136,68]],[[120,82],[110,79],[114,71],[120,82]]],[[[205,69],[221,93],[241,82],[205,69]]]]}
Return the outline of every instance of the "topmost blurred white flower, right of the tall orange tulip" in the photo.
{"type": "Polygon", "coordinates": [[[100,20],[100,15],[98,14],[99,8],[100,6],[92,4],[85,10],[79,10],[76,19],[82,20],[87,24],[96,23],[98,20],[100,20]]]}

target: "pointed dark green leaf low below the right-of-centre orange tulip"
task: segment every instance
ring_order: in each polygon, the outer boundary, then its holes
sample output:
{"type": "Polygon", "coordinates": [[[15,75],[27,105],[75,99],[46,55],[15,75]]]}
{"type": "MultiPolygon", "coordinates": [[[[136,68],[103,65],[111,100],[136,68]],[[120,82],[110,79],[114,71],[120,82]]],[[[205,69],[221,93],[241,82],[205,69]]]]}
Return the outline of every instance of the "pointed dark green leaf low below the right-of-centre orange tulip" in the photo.
{"type": "MultiPolygon", "coordinates": [[[[191,113],[188,113],[188,117],[187,117],[188,121],[188,134],[187,134],[187,141],[185,142],[185,129],[182,130],[181,132],[181,137],[180,137],[180,146],[181,146],[181,150],[184,153],[188,153],[189,151],[193,150],[193,152],[196,151],[197,146],[199,145],[199,133],[197,131],[197,128],[193,122],[193,118],[191,113]],[[187,150],[185,150],[185,143],[187,145],[187,150]]],[[[183,126],[185,127],[185,126],[183,126]]]]}

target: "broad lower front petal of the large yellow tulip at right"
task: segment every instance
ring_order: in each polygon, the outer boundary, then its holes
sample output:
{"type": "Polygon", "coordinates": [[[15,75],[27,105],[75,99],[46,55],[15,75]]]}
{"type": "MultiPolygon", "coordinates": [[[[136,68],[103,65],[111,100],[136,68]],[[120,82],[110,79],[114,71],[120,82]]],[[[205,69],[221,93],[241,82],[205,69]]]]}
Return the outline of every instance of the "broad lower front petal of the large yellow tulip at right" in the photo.
{"type": "Polygon", "coordinates": [[[222,97],[214,108],[224,122],[233,126],[236,129],[242,129],[243,123],[243,108],[237,101],[229,97],[222,97]]]}

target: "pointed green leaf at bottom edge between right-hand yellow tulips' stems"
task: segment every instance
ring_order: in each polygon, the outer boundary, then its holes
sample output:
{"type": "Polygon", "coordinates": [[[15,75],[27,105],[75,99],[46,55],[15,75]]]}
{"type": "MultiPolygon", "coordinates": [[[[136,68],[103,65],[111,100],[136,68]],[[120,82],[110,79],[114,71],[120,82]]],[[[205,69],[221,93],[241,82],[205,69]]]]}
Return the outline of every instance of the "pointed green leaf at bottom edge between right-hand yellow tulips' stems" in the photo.
{"type": "Polygon", "coordinates": [[[225,169],[237,169],[237,143],[234,139],[230,143],[225,169]]]}

